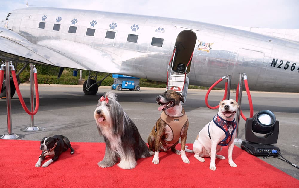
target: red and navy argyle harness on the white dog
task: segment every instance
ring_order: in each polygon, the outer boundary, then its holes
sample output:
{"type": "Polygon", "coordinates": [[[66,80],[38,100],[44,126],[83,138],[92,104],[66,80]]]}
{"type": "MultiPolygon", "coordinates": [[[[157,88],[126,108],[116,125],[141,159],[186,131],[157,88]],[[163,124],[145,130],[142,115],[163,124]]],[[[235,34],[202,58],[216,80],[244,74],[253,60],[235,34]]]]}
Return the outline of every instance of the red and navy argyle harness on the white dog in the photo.
{"type": "MultiPolygon", "coordinates": [[[[231,137],[234,133],[234,131],[236,130],[237,127],[237,123],[235,120],[233,121],[226,121],[224,119],[222,119],[218,114],[215,115],[215,117],[213,118],[214,123],[225,132],[225,138],[220,141],[220,143],[218,145],[220,146],[227,146],[228,143],[231,141],[231,137]]],[[[209,133],[209,137],[210,139],[212,139],[211,135],[210,135],[210,123],[208,126],[208,133],[209,133]]]]}

